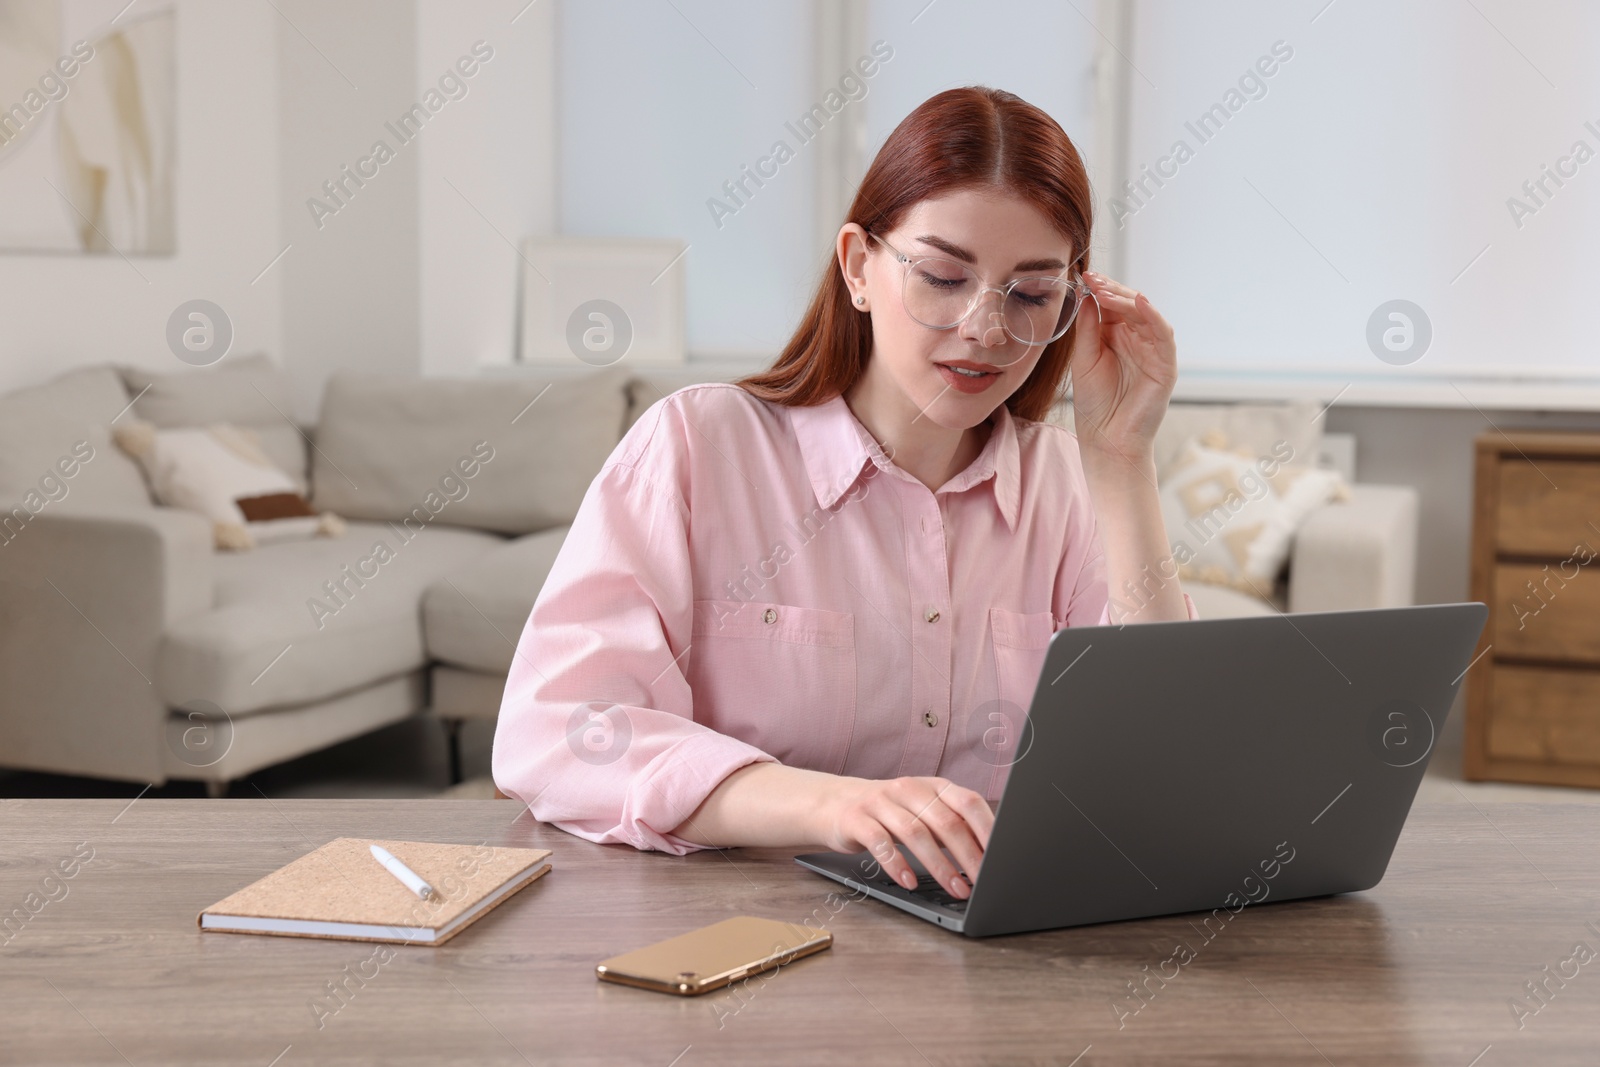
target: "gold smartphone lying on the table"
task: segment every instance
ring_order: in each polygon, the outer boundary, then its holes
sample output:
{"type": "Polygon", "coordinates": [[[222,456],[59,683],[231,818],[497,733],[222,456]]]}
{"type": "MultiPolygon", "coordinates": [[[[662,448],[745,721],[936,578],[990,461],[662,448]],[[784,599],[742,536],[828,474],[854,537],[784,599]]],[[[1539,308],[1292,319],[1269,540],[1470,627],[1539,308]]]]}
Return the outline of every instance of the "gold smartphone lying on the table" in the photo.
{"type": "Polygon", "coordinates": [[[834,934],[776,918],[739,915],[602,960],[605,982],[694,997],[821,952],[834,934]]]}

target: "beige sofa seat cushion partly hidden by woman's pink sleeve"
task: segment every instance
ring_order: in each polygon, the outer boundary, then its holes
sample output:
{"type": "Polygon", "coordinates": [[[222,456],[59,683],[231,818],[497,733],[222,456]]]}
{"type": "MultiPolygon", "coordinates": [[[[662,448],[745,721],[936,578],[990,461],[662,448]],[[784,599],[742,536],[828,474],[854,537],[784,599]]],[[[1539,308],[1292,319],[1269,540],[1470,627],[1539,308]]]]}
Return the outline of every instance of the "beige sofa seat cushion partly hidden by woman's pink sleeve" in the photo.
{"type": "Polygon", "coordinates": [[[429,656],[504,677],[568,530],[517,537],[434,582],[422,598],[429,656]]]}

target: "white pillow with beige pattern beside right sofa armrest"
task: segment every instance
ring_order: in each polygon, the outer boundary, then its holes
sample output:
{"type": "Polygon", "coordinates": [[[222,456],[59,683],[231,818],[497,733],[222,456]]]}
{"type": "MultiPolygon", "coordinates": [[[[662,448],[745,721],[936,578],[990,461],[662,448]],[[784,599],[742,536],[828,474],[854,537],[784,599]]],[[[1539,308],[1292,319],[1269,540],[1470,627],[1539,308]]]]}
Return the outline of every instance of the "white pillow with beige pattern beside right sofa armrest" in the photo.
{"type": "Polygon", "coordinates": [[[1350,496],[1336,472],[1293,459],[1286,442],[1256,454],[1229,448],[1219,430],[1182,445],[1160,483],[1162,518],[1179,577],[1261,598],[1270,593],[1306,517],[1328,501],[1350,496]]]}

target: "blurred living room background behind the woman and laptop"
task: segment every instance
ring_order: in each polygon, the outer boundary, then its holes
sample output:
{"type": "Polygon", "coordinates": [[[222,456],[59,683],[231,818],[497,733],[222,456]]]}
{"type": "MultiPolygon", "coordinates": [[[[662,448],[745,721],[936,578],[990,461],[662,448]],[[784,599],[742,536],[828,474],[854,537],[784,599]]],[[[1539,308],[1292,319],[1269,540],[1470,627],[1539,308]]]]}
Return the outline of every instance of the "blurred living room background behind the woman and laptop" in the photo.
{"type": "Polygon", "coordinates": [[[888,133],[989,85],[1176,330],[1200,614],[1483,600],[1424,795],[1600,798],[1595,42],[1581,0],[0,0],[0,797],[491,795],[611,448],[766,366],[888,133]]]}

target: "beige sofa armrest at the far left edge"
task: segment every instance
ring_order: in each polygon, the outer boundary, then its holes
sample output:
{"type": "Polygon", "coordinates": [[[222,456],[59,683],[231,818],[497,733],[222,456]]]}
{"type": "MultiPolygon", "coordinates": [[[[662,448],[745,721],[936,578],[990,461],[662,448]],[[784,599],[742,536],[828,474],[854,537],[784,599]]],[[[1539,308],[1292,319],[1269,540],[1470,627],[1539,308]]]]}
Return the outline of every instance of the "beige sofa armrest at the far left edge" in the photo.
{"type": "Polygon", "coordinates": [[[165,781],[155,654],[213,600],[211,523],[45,510],[0,544],[0,761],[165,781]]]}

